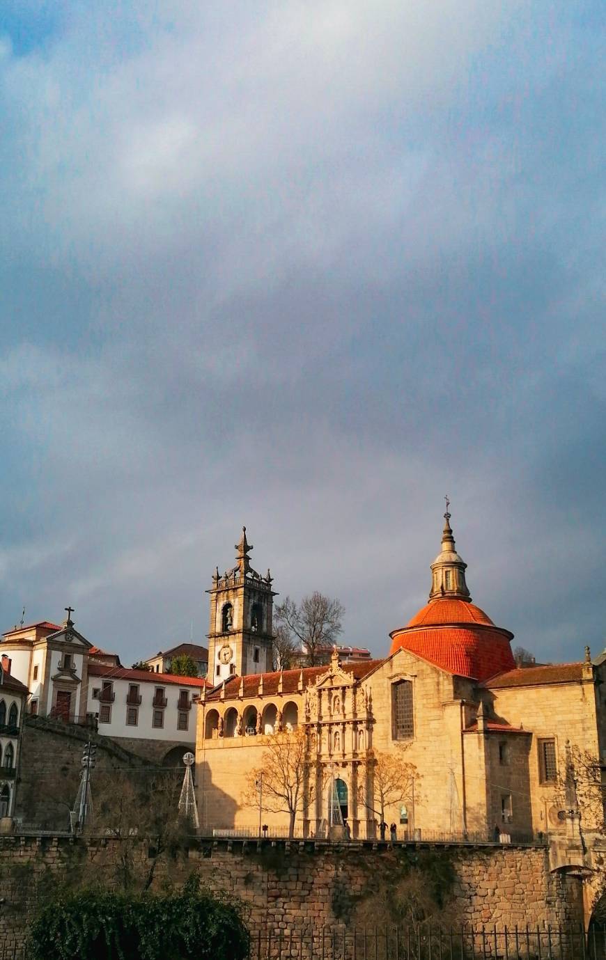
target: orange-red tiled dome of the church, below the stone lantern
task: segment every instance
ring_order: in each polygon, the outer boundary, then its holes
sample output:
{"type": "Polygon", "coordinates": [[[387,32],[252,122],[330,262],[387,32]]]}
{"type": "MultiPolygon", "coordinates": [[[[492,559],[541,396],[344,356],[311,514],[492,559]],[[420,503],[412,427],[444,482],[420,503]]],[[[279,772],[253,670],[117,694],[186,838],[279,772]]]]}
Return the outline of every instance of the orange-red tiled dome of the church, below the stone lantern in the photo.
{"type": "Polygon", "coordinates": [[[393,631],[391,653],[409,650],[448,673],[484,681],[515,667],[512,636],[479,607],[445,597],[432,600],[407,627],[393,631]]]}

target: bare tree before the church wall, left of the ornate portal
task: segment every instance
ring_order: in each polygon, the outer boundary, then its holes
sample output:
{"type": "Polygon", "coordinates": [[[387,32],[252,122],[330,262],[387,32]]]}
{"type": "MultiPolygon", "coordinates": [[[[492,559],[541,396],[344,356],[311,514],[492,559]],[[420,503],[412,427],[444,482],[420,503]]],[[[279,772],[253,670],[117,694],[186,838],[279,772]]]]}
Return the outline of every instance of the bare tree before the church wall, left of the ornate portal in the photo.
{"type": "Polygon", "coordinates": [[[244,806],[288,814],[288,836],[295,833],[297,813],[303,809],[303,783],[307,762],[307,737],[301,727],[272,737],[261,757],[261,765],[251,770],[242,795],[244,806]]]}

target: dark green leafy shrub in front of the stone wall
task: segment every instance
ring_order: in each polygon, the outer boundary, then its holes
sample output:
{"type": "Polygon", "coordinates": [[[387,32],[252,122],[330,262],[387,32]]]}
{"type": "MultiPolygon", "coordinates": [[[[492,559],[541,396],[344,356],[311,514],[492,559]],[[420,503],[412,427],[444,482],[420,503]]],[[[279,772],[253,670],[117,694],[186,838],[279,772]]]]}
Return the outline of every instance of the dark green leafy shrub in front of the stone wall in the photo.
{"type": "Polygon", "coordinates": [[[30,929],[32,960],[242,960],[249,936],[233,904],[190,877],[178,894],[100,890],[47,904],[30,929]]]}

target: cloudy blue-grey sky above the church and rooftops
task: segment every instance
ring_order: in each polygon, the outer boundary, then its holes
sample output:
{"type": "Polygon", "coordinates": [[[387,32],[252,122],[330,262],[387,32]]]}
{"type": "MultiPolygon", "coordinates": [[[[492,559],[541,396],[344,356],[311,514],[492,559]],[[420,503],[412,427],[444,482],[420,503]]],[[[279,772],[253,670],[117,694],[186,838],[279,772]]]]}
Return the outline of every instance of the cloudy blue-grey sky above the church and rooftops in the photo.
{"type": "Polygon", "coordinates": [[[246,524],[389,649],[444,495],[538,660],[606,642],[601,0],[3,0],[0,626],[204,642],[246,524]]]}

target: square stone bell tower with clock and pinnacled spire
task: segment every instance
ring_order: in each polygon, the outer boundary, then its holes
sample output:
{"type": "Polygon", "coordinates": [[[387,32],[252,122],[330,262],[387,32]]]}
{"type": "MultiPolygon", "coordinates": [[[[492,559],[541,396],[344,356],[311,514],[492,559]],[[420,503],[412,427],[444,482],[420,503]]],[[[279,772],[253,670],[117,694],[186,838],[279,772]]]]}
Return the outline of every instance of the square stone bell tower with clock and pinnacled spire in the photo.
{"type": "Polygon", "coordinates": [[[225,573],[219,567],[212,575],[210,629],[208,632],[208,674],[216,686],[234,674],[269,673],[272,669],[273,577],[251,566],[253,544],[242,527],[236,543],[236,564],[225,573]]]}

